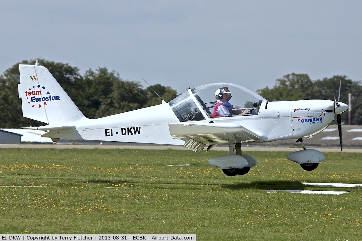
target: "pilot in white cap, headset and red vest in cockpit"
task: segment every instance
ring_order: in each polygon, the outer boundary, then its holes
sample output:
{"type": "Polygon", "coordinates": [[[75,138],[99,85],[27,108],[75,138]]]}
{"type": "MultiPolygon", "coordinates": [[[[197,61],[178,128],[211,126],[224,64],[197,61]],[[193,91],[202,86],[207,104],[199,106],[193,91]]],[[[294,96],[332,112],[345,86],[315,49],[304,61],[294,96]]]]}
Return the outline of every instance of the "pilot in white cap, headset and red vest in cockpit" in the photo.
{"type": "Polygon", "coordinates": [[[214,112],[212,113],[214,117],[226,117],[226,116],[241,116],[244,115],[246,111],[241,112],[239,115],[233,115],[232,110],[227,107],[227,100],[231,99],[231,92],[220,88],[215,92],[216,104],[214,107],[214,112]]]}

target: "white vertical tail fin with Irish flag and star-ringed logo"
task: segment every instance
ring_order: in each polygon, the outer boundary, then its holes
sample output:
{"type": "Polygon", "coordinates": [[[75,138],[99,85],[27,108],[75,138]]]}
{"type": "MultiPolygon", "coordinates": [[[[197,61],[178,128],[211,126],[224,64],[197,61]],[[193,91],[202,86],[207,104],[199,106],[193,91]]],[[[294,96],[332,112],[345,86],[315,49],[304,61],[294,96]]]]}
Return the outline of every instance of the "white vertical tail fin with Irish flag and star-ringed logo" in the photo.
{"type": "Polygon", "coordinates": [[[47,124],[66,123],[84,115],[47,68],[20,64],[18,85],[23,116],[47,124]]]}

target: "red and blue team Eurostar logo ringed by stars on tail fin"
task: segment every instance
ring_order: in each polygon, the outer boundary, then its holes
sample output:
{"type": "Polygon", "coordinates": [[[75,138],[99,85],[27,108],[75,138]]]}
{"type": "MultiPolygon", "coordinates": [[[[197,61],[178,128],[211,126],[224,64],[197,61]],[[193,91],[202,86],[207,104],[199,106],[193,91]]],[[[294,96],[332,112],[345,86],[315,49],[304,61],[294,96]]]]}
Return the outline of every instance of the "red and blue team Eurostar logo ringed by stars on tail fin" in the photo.
{"type": "MultiPolygon", "coordinates": [[[[30,76],[30,78],[35,78],[35,76],[30,76]]],[[[25,91],[26,100],[31,107],[42,108],[42,106],[46,106],[49,101],[57,101],[60,100],[60,96],[52,96],[49,91],[46,90],[46,87],[41,87],[38,85],[37,87],[31,86],[29,90],[25,91]],[[43,96],[43,94],[46,96],[43,96]],[[42,103],[43,102],[43,103],[42,103]]]]}

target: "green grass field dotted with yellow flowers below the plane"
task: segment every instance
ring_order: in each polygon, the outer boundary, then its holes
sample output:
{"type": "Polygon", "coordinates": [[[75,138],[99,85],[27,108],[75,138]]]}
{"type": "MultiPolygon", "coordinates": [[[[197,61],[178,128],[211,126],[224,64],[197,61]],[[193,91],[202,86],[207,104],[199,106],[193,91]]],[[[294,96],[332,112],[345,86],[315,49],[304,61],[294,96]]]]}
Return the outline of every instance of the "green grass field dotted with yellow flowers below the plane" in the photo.
{"type": "Polygon", "coordinates": [[[361,184],[361,154],[325,152],[327,159],[307,172],[287,160],[287,152],[247,153],[258,165],[228,177],[207,162],[225,151],[0,149],[0,233],[362,239],[361,188],[302,184],[361,184]]]}

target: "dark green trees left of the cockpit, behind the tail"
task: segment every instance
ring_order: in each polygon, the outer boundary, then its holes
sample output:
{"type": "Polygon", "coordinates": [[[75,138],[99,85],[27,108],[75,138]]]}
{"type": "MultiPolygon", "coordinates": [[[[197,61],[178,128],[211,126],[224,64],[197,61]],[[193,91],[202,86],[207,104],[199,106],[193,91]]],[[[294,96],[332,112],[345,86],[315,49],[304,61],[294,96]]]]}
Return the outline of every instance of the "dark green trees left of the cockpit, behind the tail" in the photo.
{"type": "MultiPolygon", "coordinates": [[[[91,119],[161,104],[160,97],[169,102],[177,96],[176,90],[169,86],[156,84],[144,89],[139,82],[125,81],[105,67],[88,69],[82,76],[77,67],[69,64],[38,60],[49,69],[84,116],[91,119]]],[[[35,60],[21,61],[0,76],[0,128],[44,125],[22,117],[21,98],[18,98],[19,64],[34,63],[35,60]]]]}

